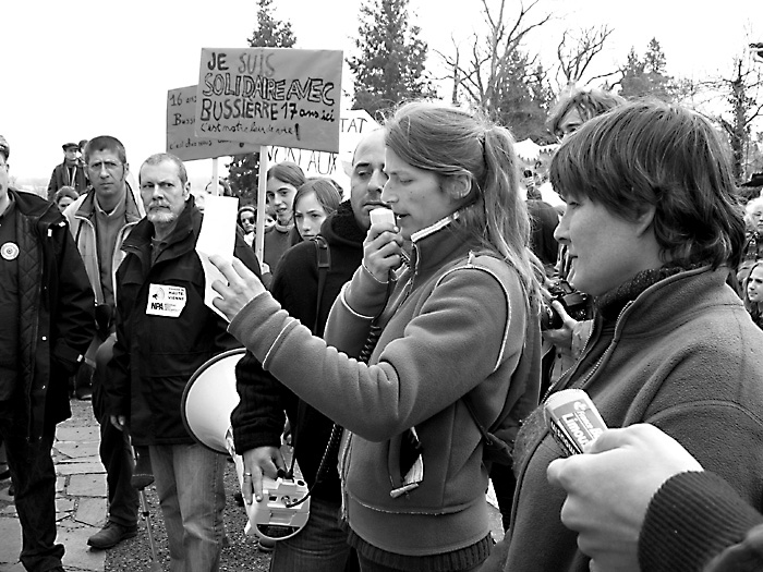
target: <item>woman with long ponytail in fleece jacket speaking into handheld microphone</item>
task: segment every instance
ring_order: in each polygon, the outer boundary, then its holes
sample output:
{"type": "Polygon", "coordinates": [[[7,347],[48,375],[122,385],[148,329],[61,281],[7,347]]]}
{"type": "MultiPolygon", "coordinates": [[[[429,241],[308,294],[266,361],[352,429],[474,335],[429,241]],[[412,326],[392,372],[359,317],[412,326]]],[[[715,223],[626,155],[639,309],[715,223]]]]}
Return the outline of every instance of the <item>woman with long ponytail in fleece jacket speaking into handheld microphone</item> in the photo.
{"type": "MultiPolygon", "coordinates": [[[[405,105],[385,130],[382,200],[396,222],[368,230],[326,341],[238,260],[213,258],[228,281],[214,283],[215,304],[266,369],[346,428],[342,518],[361,569],[477,570],[493,540],[475,417],[485,427],[509,417],[512,441],[540,384],[517,157],[506,129],[446,105],[405,105]],[[380,333],[366,364],[356,357],[372,326],[380,333]]],[[[244,487],[261,495],[259,475],[246,476],[257,465],[244,455],[244,487]]]]}

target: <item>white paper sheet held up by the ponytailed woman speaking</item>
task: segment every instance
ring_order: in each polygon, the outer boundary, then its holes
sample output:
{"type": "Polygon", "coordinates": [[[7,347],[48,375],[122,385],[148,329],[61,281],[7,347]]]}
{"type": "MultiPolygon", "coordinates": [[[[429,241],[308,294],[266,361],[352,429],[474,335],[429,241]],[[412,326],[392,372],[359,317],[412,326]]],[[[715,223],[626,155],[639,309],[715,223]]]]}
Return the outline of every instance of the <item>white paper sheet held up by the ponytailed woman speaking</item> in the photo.
{"type": "MultiPolygon", "coordinates": [[[[205,278],[204,303],[218,315],[226,316],[217,309],[211,301],[217,292],[211,289],[215,280],[226,282],[222,272],[209,261],[213,254],[233,261],[235,246],[235,216],[239,210],[239,199],[232,196],[207,195],[204,204],[204,221],[196,242],[196,253],[202,260],[205,278]]],[[[226,318],[227,320],[228,318],[226,318]]]]}

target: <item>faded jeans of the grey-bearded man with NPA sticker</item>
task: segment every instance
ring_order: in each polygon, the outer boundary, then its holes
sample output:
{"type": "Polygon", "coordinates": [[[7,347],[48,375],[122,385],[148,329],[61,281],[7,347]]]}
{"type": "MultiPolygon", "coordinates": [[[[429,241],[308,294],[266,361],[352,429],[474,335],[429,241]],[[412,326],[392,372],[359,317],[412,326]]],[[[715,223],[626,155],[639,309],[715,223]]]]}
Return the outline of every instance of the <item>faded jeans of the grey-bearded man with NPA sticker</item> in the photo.
{"type": "Polygon", "coordinates": [[[149,446],[170,572],[217,572],[225,536],[226,457],[201,445],[149,446]]]}

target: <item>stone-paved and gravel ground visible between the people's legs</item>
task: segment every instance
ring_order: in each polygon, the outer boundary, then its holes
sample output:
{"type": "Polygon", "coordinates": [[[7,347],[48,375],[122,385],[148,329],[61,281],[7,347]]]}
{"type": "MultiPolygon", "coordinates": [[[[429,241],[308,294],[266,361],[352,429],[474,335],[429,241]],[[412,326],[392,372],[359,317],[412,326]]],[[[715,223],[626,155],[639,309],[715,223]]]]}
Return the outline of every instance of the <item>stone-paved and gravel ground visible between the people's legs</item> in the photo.
{"type": "MultiPolygon", "coordinates": [[[[57,541],[65,546],[63,565],[68,572],[138,572],[152,570],[146,523],[138,523],[138,536],[126,540],[119,548],[104,551],[90,550],[87,538],[106,521],[106,473],[98,457],[99,431],[89,402],[72,401],[72,418],[61,423],[56,431],[53,460],[56,462],[57,541]],[[107,560],[108,558],[108,560],[107,560]]],[[[229,495],[237,483],[233,464],[226,471],[229,495]]],[[[15,513],[13,497],[8,495],[10,480],[0,482],[0,572],[24,572],[19,562],[21,526],[15,513]]],[[[148,490],[148,489],[147,489],[148,490]]],[[[164,569],[169,568],[166,535],[158,510],[158,501],[148,491],[153,530],[164,569]]],[[[495,508],[492,490],[488,492],[493,536],[504,535],[500,513],[495,508]]],[[[268,558],[254,548],[252,537],[243,535],[243,510],[228,499],[226,530],[231,546],[223,549],[221,570],[267,570],[268,558]],[[238,553],[237,553],[238,552],[238,553]],[[242,552],[247,553],[242,558],[242,552]],[[245,560],[245,563],[243,562],[245,560]]]]}

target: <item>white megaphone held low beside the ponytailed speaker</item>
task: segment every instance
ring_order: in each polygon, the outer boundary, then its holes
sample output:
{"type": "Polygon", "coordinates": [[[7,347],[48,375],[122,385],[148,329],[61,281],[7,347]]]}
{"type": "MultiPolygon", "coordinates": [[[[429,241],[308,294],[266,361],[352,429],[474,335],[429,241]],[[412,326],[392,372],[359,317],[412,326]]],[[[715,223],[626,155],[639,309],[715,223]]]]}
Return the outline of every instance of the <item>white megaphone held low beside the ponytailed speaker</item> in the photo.
{"type": "MultiPolygon", "coordinates": [[[[207,449],[230,454],[235,463],[239,486],[243,487],[244,460],[237,454],[230,414],[239,404],[235,365],[246,350],[229,350],[205,362],[191,376],[181,401],[185,430],[207,449]]],[[[304,480],[272,479],[263,476],[263,500],[244,504],[249,522],[246,534],[283,540],[299,533],[310,516],[310,497],[304,480]]]]}

